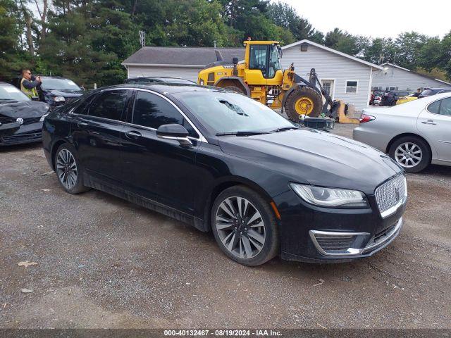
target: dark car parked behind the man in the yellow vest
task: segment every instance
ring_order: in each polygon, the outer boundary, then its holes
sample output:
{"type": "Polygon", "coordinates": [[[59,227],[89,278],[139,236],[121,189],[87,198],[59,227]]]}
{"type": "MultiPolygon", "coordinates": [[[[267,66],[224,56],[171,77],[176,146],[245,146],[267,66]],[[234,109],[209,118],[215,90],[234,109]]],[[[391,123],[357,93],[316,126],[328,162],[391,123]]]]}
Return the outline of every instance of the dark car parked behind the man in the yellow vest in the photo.
{"type": "MultiPolygon", "coordinates": [[[[11,84],[20,89],[21,80],[22,77],[16,77],[11,81],[11,84]]],[[[41,80],[42,84],[37,87],[39,101],[52,107],[62,106],[83,94],[83,89],[78,87],[78,84],[65,77],[41,76],[41,80]]]]}

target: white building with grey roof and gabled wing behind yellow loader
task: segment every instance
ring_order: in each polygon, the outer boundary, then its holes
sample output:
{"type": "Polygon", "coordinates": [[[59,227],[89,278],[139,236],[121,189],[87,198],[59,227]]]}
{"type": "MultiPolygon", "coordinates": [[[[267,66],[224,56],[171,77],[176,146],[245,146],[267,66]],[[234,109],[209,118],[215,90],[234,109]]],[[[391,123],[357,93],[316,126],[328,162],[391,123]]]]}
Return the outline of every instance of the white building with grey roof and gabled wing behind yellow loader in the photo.
{"type": "MultiPolygon", "coordinates": [[[[226,61],[245,58],[243,48],[217,48],[226,61]]],[[[295,63],[297,75],[309,78],[315,68],[321,84],[335,100],[354,104],[356,111],[369,105],[373,73],[383,70],[375,65],[330,49],[309,40],[289,44],[283,48],[282,65],[295,63]]],[[[145,46],[123,61],[128,77],[175,76],[197,82],[197,73],[208,63],[216,61],[214,48],[151,47],[145,46]]]]}

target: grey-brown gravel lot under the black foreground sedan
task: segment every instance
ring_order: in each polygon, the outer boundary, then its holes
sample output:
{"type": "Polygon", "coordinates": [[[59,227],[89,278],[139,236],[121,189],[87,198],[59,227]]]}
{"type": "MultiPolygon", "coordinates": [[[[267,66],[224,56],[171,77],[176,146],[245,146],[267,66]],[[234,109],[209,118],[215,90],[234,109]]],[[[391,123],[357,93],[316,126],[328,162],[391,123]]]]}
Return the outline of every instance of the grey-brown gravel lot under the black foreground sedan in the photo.
{"type": "Polygon", "coordinates": [[[404,228],[375,256],[259,268],[171,218],[66,194],[40,144],[0,149],[0,168],[0,327],[451,328],[450,167],[408,176],[404,228]]]}

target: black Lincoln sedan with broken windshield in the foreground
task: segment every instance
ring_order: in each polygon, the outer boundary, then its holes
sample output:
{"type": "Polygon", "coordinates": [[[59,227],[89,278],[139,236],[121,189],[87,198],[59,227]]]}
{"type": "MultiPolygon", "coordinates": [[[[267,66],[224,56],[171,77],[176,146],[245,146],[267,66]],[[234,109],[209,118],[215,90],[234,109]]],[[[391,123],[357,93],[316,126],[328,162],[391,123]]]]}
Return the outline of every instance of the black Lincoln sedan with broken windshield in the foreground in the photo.
{"type": "Polygon", "coordinates": [[[402,227],[400,165],[222,89],[98,89],[50,113],[42,138],[66,192],[100,189],[211,230],[245,265],[367,257],[402,227]]]}

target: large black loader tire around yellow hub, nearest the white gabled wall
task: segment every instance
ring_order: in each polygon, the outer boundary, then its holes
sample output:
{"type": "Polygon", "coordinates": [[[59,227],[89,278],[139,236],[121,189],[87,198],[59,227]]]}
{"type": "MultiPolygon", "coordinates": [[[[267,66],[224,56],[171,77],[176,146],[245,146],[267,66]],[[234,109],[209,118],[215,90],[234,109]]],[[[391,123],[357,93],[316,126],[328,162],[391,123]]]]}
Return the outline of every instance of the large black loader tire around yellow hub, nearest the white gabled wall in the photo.
{"type": "Polygon", "coordinates": [[[290,93],[287,101],[285,101],[284,107],[288,118],[295,123],[299,123],[299,118],[301,117],[301,113],[296,111],[296,104],[302,97],[308,98],[313,104],[313,109],[308,114],[311,118],[318,117],[321,111],[323,111],[323,98],[321,94],[311,87],[299,87],[290,93]]]}

